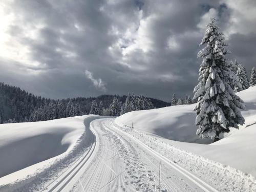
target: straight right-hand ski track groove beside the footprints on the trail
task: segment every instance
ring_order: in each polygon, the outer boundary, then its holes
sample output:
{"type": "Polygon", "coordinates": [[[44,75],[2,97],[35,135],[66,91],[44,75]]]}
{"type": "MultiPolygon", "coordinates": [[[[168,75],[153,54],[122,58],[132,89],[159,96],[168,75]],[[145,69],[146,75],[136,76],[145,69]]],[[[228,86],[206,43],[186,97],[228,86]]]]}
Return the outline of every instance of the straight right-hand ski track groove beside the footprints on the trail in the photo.
{"type": "Polygon", "coordinates": [[[175,170],[177,170],[179,173],[181,173],[183,176],[185,176],[188,180],[190,180],[191,182],[193,182],[194,184],[196,184],[198,187],[200,187],[202,190],[204,191],[214,191],[214,192],[218,192],[217,189],[215,189],[214,187],[212,187],[211,185],[209,185],[208,183],[204,182],[203,180],[201,180],[200,178],[198,178],[197,176],[191,174],[190,172],[188,172],[186,169],[184,169],[183,167],[179,166],[178,164],[176,164],[173,161],[170,161],[169,159],[167,159],[166,157],[162,156],[161,154],[159,154],[158,152],[154,151],[152,148],[148,147],[146,144],[144,144],[143,142],[141,142],[140,140],[138,140],[137,138],[133,137],[132,135],[118,129],[115,124],[113,123],[113,120],[109,121],[110,127],[113,127],[113,129],[118,130],[119,132],[122,132],[122,134],[126,135],[127,137],[131,138],[132,140],[136,141],[138,144],[141,145],[141,147],[143,147],[145,150],[147,150],[148,152],[150,152],[152,155],[155,155],[156,157],[158,157],[159,159],[161,159],[161,161],[165,162],[166,164],[168,164],[169,166],[173,167],[175,170]]]}

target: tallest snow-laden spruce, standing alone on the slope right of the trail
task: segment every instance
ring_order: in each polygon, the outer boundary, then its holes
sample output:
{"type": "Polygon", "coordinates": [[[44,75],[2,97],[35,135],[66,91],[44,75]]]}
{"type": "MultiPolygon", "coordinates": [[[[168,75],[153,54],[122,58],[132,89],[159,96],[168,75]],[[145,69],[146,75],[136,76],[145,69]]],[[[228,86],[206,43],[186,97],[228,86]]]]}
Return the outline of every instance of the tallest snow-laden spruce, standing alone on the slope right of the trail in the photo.
{"type": "Polygon", "coordinates": [[[240,109],[245,105],[230,87],[230,68],[226,65],[225,55],[229,53],[223,40],[224,34],[218,32],[215,19],[211,19],[200,45],[205,45],[198,53],[203,59],[199,69],[199,83],[194,89],[198,98],[197,135],[216,141],[219,134],[229,132],[229,127],[238,128],[244,124],[240,109]]]}

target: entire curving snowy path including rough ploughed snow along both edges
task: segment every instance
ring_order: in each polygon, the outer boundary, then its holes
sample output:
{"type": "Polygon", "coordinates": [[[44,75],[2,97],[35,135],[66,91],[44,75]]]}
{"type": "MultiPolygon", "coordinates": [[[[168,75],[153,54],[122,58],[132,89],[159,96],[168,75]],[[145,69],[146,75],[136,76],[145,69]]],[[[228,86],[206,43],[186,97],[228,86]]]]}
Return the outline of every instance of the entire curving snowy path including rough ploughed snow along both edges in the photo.
{"type": "Polygon", "coordinates": [[[0,191],[256,191],[255,178],[238,169],[113,118],[81,118],[84,134],[69,155],[25,180],[0,179],[0,191]]]}

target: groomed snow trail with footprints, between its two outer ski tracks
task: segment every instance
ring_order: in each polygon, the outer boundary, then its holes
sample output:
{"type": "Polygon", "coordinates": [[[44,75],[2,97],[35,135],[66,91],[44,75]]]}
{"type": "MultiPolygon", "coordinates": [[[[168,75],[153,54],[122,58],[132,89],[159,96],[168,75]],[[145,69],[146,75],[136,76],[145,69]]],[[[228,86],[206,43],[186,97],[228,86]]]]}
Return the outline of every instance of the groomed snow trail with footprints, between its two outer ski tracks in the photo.
{"type": "Polygon", "coordinates": [[[94,120],[90,129],[91,150],[46,191],[217,191],[117,129],[113,119],[94,120]]]}

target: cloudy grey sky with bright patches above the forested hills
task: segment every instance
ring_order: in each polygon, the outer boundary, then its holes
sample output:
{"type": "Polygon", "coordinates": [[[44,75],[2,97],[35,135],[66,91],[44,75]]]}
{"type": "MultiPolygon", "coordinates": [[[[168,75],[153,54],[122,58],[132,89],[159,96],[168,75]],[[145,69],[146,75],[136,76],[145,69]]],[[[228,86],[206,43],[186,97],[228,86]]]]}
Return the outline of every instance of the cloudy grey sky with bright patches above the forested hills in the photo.
{"type": "Polygon", "coordinates": [[[0,81],[48,98],[192,94],[211,17],[256,67],[255,0],[3,0],[0,81]]]}

